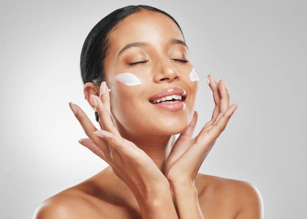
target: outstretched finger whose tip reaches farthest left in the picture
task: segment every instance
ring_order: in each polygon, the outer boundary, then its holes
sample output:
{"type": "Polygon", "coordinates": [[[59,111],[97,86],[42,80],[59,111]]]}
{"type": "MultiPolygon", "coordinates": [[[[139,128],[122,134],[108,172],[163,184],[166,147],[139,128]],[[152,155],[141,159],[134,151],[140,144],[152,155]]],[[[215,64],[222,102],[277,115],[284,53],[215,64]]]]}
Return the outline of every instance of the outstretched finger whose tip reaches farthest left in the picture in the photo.
{"type": "MultiPolygon", "coordinates": [[[[96,127],[93,125],[93,123],[90,121],[90,119],[87,117],[87,115],[84,113],[84,111],[77,105],[73,104],[72,102],[69,103],[70,108],[74,112],[76,118],[78,119],[79,123],[81,124],[85,134],[92,139],[92,141],[101,149],[104,154],[107,156],[106,152],[109,150],[108,146],[106,145],[106,142],[104,139],[99,138],[95,134],[93,134],[94,131],[96,131],[96,127]]],[[[107,157],[108,158],[108,157],[107,157]]]]}

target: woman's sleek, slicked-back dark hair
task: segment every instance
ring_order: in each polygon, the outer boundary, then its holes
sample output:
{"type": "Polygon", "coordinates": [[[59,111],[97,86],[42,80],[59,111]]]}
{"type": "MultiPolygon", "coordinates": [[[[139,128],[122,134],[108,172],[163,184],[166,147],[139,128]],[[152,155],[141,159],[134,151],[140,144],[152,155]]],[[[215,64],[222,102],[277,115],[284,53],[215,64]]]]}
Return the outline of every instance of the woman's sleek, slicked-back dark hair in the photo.
{"type": "MultiPolygon", "coordinates": [[[[83,84],[86,84],[87,82],[93,82],[97,86],[101,85],[102,81],[105,80],[104,60],[109,53],[108,49],[110,48],[110,32],[118,25],[121,20],[127,16],[145,10],[160,12],[168,16],[175,22],[182,33],[179,24],[172,16],[154,7],[145,5],[131,5],[111,12],[93,27],[84,41],[80,57],[80,70],[83,84]]],[[[99,122],[97,112],[95,112],[95,117],[96,121],[99,122]]]]}

